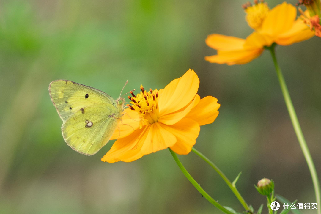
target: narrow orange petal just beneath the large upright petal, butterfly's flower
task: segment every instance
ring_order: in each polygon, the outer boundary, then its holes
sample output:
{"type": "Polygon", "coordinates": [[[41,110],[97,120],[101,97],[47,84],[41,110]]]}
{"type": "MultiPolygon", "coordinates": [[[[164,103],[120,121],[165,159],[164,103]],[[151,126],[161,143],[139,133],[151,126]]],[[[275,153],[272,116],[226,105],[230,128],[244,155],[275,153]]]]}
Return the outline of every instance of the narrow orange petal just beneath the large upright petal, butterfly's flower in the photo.
{"type": "Polygon", "coordinates": [[[193,109],[193,107],[195,107],[198,104],[199,101],[200,101],[200,96],[196,94],[193,101],[190,102],[190,104],[188,104],[186,107],[173,113],[161,115],[158,121],[160,123],[167,124],[167,125],[176,124],[178,121],[183,119],[193,109]]]}

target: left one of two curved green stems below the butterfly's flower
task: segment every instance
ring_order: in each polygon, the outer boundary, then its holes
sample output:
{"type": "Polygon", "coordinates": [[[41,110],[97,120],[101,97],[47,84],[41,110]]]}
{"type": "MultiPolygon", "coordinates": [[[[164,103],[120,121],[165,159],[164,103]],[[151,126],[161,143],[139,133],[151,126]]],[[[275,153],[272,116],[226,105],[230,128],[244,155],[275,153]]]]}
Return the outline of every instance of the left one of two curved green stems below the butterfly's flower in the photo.
{"type": "Polygon", "coordinates": [[[170,148],[168,148],[168,149],[169,149],[170,153],[172,154],[174,160],[176,161],[178,167],[181,169],[181,171],[187,177],[187,179],[193,184],[193,186],[198,190],[198,192],[200,192],[202,194],[202,196],[204,196],[204,198],[207,199],[207,201],[212,203],[215,207],[217,207],[221,211],[223,211],[223,212],[225,212],[227,214],[233,214],[232,212],[230,212],[229,210],[224,208],[221,204],[219,204],[217,201],[215,201],[209,194],[207,194],[204,191],[204,189],[195,181],[195,179],[187,172],[187,170],[185,169],[183,164],[180,162],[180,160],[178,159],[178,157],[175,154],[175,152],[173,150],[171,150],[170,148]]]}

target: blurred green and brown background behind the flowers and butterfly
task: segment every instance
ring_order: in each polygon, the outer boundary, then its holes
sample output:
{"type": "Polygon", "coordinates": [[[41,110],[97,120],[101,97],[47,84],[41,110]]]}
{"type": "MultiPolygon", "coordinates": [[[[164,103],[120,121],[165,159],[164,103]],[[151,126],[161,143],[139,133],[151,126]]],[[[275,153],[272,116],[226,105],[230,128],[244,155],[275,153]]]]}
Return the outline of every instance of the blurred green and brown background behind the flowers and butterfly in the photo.
{"type": "MultiPolygon", "coordinates": [[[[221,104],[195,148],[230,180],[242,172],[239,192],[255,210],[266,203],[253,186],[263,177],[290,201],[315,202],[269,53],[245,65],[204,61],[215,54],[205,45],[208,34],[245,38],[252,32],[243,3],[0,1],[0,213],[221,213],[168,150],[109,164],[100,158],[114,141],[91,157],[70,149],[48,94],[51,81],[67,79],[117,98],[126,80],[125,91],[140,84],[160,89],[189,68],[200,78],[200,96],[221,104]]],[[[268,1],[270,7],[280,3],[268,1]]],[[[276,50],[319,176],[320,45],[312,38],[276,50]]],[[[215,200],[243,211],[204,161],[194,153],[179,158],[215,200]]]]}

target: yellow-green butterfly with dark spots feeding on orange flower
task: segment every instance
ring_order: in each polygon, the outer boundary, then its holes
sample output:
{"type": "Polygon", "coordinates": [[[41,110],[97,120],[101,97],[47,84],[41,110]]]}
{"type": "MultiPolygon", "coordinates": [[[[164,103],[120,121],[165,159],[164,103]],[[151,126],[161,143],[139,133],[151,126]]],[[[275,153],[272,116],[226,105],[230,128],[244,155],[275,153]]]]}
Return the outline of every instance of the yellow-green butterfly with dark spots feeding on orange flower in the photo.
{"type": "Polygon", "coordinates": [[[115,100],[105,92],[69,80],[52,81],[49,95],[63,121],[61,131],[66,143],[85,155],[94,155],[106,145],[125,108],[124,98],[115,100]]]}

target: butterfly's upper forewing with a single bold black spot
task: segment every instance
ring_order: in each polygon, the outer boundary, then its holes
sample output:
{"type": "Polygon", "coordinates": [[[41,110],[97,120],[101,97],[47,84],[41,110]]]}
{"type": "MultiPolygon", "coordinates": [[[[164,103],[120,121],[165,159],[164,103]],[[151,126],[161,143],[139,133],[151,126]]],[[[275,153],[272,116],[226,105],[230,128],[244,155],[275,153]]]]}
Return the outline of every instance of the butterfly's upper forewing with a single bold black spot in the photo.
{"type": "Polygon", "coordinates": [[[108,94],[69,80],[52,81],[49,85],[49,94],[64,122],[75,112],[90,105],[111,104],[117,107],[116,101],[108,94]]]}

